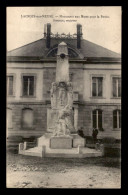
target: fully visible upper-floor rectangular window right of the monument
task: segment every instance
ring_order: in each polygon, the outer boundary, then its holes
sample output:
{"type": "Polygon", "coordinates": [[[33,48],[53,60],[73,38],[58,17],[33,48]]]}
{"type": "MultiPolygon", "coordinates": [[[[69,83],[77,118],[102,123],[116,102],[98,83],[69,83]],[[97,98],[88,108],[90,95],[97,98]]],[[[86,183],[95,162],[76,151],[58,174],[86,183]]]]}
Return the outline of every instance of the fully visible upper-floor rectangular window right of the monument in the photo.
{"type": "Polygon", "coordinates": [[[92,96],[102,97],[103,88],[103,78],[102,77],[92,77],[92,96]]]}

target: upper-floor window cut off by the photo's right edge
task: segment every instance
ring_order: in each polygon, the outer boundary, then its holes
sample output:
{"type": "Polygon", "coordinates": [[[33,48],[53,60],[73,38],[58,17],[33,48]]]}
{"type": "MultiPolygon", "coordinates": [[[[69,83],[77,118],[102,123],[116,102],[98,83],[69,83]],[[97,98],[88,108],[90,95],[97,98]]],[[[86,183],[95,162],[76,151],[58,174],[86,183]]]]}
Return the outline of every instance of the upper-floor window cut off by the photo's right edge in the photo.
{"type": "Polygon", "coordinates": [[[121,78],[113,78],[113,97],[121,97],[121,78]]]}

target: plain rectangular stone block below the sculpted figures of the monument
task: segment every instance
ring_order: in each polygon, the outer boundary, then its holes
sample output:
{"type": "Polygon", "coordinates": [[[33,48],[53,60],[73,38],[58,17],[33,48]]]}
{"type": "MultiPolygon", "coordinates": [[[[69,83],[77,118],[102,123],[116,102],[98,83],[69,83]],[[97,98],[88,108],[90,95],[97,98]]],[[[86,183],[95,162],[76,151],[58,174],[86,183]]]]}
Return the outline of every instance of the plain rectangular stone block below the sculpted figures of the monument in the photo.
{"type": "Polygon", "coordinates": [[[73,138],[71,136],[59,136],[50,138],[51,149],[71,149],[73,138]]]}

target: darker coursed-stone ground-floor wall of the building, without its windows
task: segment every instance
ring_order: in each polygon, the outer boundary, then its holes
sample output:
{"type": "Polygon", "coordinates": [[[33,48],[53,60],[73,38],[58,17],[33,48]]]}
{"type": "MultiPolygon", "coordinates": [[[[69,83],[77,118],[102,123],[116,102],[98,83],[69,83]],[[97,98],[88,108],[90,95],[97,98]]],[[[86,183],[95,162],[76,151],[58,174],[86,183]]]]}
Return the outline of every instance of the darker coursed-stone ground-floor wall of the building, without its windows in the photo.
{"type": "MultiPolygon", "coordinates": [[[[8,105],[8,108],[12,109],[12,127],[8,129],[8,136],[17,135],[22,137],[36,136],[40,137],[47,131],[47,105],[43,104],[19,104],[8,105]],[[32,129],[22,128],[22,109],[31,108],[34,113],[34,121],[32,129]]],[[[120,130],[113,129],[113,110],[117,109],[117,106],[105,106],[100,105],[79,105],[78,106],[78,129],[84,128],[84,134],[86,136],[92,135],[92,111],[96,108],[103,110],[103,132],[99,132],[99,138],[105,136],[112,136],[117,139],[121,137],[120,130]]],[[[118,106],[119,108],[119,106],[118,106]]]]}

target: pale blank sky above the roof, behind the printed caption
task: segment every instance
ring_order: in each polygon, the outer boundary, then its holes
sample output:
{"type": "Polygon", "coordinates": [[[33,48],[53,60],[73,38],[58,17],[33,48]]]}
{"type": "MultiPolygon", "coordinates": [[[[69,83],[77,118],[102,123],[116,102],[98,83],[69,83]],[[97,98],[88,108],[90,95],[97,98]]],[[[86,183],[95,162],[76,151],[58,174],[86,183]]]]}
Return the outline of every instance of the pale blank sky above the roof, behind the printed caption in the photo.
{"type": "Polygon", "coordinates": [[[46,23],[51,23],[52,33],[66,34],[76,33],[76,25],[80,23],[84,39],[121,53],[120,6],[7,7],[6,14],[7,51],[43,38],[46,23]],[[35,17],[26,18],[24,15],[35,17]],[[44,15],[52,15],[52,18],[45,18],[44,15]],[[67,16],[71,18],[65,18],[67,16]]]}

